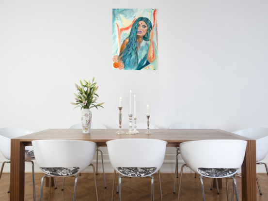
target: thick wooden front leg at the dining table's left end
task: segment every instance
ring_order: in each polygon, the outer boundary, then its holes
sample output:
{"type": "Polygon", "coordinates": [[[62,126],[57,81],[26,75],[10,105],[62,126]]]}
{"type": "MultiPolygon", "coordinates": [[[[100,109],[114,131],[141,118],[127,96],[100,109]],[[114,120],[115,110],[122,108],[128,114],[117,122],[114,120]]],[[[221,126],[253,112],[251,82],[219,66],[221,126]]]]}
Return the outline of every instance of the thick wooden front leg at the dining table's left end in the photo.
{"type": "Polygon", "coordinates": [[[25,146],[11,139],[10,201],[24,201],[25,146]]]}

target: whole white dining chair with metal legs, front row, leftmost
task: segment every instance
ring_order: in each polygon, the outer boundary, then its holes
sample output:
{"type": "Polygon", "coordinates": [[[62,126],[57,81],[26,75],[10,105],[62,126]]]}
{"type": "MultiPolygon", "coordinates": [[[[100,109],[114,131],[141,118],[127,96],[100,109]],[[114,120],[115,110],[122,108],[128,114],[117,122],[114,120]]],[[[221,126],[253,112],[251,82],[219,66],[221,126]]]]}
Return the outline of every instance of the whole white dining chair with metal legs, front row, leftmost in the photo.
{"type": "Polygon", "coordinates": [[[73,201],[76,199],[77,180],[81,171],[88,166],[93,167],[96,196],[98,201],[98,190],[95,175],[95,167],[91,164],[96,154],[96,143],[83,140],[47,139],[33,140],[35,160],[46,175],[41,180],[40,201],[43,196],[44,179],[49,177],[48,201],[50,201],[51,177],[75,177],[75,189],[73,201]],[[50,149],[47,149],[49,147],[50,149]]]}

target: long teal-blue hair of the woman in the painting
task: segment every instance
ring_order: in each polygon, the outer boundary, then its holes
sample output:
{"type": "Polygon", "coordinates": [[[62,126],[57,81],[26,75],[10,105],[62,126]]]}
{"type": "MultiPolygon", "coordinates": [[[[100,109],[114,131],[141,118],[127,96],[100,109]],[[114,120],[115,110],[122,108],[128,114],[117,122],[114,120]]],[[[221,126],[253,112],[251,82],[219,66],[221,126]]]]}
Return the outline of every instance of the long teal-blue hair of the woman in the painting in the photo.
{"type": "Polygon", "coordinates": [[[137,33],[139,22],[144,21],[148,29],[146,34],[143,36],[143,40],[148,41],[152,27],[151,21],[147,17],[139,17],[135,20],[131,27],[130,34],[128,36],[128,43],[125,49],[121,52],[119,57],[125,65],[126,70],[135,69],[138,65],[138,54],[137,54],[137,33]]]}

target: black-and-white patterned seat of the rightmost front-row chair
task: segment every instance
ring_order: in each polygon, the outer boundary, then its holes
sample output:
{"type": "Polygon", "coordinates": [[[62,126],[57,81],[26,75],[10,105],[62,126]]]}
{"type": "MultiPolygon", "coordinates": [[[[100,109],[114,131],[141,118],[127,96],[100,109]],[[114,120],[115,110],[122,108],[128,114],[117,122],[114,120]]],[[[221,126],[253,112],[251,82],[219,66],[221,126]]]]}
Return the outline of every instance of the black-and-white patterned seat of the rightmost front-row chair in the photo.
{"type": "Polygon", "coordinates": [[[224,177],[236,172],[236,169],[231,168],[198,168],[197,170],[201,175],[208,177],[224,177]]]}

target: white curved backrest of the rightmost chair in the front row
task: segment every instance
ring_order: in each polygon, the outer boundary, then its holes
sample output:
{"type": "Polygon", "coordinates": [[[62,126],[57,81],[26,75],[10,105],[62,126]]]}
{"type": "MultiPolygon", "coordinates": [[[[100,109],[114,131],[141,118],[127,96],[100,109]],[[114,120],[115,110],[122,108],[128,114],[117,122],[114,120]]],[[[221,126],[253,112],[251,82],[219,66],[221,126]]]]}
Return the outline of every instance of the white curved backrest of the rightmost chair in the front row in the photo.
{"type": "Polygon", "coordinates": [[[187,166],[198,173],[198,168],[241,168],[247,141],[213,139],[183,142],[180,153],[187,166]]]}

